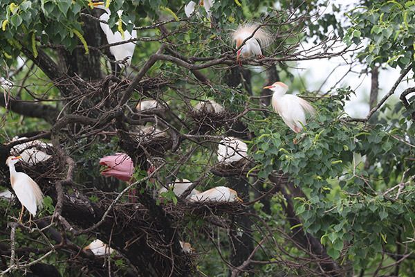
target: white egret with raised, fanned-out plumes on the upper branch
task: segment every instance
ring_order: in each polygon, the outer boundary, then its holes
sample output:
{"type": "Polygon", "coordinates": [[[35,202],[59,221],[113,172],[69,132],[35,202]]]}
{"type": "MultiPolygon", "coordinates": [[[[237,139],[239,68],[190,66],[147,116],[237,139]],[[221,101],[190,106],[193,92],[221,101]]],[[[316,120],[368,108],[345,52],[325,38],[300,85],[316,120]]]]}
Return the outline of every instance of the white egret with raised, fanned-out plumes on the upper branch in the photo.
{"type": "Polygon", "coordinates": [[[270,33],[266,32],[263,28],[257,30],[258,26],[258,24],[244,24],[239,26],[232,34],[232,38],[237,42],[237,48],[243,44],[245,39],[250,37],[237,51],[237,62],[239,65],[242,65],[241,57],[257,56],[260,59],[264,58],[261,49],[266,48],[272,42],[270,33]],[[255,30],[257,31],[255,32],[255,30]]]}

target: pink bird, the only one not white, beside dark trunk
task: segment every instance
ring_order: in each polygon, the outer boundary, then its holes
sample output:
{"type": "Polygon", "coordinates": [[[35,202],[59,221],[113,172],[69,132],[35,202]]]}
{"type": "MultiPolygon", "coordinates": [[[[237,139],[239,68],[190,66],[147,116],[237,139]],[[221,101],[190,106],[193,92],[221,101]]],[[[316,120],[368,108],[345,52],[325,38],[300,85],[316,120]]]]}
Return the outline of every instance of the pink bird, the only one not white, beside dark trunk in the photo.
{"type": "Polygon", "coordinates": [[[134,165],[131,158],[124,153],[116,153],[113,156],[106,156],[100,159],[100,165],[106,166],[101,175],[116,177],[122,181],[129,181],[133,176],[134,165]]]}

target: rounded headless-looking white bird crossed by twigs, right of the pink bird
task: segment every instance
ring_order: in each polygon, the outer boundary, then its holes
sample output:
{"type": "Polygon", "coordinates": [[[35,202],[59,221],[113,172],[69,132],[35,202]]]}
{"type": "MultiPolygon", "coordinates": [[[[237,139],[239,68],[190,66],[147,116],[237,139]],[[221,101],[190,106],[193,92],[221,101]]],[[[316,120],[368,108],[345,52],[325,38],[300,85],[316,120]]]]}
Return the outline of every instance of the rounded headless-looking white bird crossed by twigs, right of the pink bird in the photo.
{"type": "Polygon", "coordinates": [[[228,136],[221,140],[218,145],[218,161],[219,163],[230,164],[246,157],[248,146],[246,143],[232,136],[228,136]]]}

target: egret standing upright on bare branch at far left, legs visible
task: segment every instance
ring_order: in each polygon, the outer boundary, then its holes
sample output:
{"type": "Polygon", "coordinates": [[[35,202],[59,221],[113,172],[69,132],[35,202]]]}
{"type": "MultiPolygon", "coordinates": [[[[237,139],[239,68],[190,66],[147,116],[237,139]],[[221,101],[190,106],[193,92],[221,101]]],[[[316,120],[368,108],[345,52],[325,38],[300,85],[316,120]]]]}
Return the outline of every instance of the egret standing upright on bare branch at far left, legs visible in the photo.
{"type": "Polygon", "coordinates": [[[17,172],[15,169],[15,163],[17,163],[21,157],[10,156],[6,160],[6,165],[10,170],[10,183],[12,184],[13,190],[17,199],[21,204],[21,213],[19,216],[19,222],[23,216],[24,208],[27,208],[30,213],[30,220],[32,215],[35,216],[37,208],[42,208],[43,204],[43,193],[37,186],[36,182],[33,181],[26,173],[17,172]]]}

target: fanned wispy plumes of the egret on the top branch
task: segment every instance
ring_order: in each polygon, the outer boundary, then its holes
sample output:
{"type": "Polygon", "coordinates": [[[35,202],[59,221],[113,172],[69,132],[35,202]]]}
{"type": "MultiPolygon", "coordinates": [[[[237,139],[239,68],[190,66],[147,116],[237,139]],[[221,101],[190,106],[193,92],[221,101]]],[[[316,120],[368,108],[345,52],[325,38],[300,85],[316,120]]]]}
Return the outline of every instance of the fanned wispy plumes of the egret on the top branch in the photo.
{"type": "MultiPolygon", "coordinates": [[[[245,39],[250,37],[255,30],[257,30],[258,26],[259,24],[254,23],[243,24],[232,33],[232,39],[234,39],[237,42],[237,46],[239,46],[239,44],[241,44],[245,39]]],[[[271,34],[264,30],[264,27],[259,28],[253,37],[259,41],[261,48],[265,48],[273,42],[271,34]]]]}

